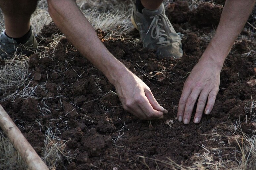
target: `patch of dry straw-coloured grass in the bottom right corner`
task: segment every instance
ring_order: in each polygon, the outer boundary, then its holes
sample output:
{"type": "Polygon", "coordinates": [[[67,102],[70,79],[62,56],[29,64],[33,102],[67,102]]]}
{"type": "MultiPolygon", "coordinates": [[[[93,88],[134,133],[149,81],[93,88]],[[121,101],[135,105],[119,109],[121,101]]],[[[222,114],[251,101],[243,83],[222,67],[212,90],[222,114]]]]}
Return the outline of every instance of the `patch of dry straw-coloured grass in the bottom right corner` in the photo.
{"type": "MultiPolygon", "coordinates": [[[[247,134],[243,133],[242,130],[239,128],[240,133],[242,134],[240,138],[236,138],[237,145],[239,146],[239,150],[235,150],[234,156],[236,154],[240,154],[241,157],[237,158],[236,161],[233,160],[222,160],[220,159],[218,161],[214,160],[212,151],[217,151],[221,153],[228,147],[223,148],[207,148],[202,145],[205,152],[203,153],[193,153],[193,156],[191,156],[187,161],[190,161],[189,164],[192,164],[191,166],[184,166],[177,164],[171,159],[168,159],[168,161],[163,160],[156,160],[152,158],[147,158],[144,156],[139,156],[142,158],[142,162],[149,168],[149,166],[146,163],[146,159],[149,159],[152,162],[156,163],[156,169],[160,170],[158,164],[164,165],[167,169],[172,170],[254,170],[256,169],[256,137],[253,135],[252,137],[248,136],[247,134]]],[[[220,136],[219,134],[210,134],[208,136],[217,136],[217,137],[226,137],[228,136],[220,136]]]]}

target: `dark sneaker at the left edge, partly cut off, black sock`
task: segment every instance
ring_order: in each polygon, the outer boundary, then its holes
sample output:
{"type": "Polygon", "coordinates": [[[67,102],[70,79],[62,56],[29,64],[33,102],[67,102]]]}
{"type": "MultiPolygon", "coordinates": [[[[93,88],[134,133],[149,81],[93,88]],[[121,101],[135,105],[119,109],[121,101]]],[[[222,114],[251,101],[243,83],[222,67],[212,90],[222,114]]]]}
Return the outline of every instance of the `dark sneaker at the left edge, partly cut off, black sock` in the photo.
{"type": "Polygon", "coordinates": [[[24,44],[17,44],[15,40],[7,37],[4,32],[5,30],[0,34],[0,59],[9,59],[16,52],[23,55],[29,55],[36,50],[38,44],[33,31],[31,31],[28,41],[24,44]]]}

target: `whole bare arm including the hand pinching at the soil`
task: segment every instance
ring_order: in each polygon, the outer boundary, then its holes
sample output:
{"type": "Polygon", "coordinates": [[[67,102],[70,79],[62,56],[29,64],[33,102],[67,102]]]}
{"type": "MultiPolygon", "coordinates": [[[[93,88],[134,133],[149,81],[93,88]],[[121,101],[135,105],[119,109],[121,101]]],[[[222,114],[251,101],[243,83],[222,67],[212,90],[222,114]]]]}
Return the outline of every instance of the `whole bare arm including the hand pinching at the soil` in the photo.
{"type": "Polygon", "coordinates": [[[149,87],[107,50],[74,0],[48,0],[48,9],[67,39],[115,86],[124,109],[140,119],[163,117],[167,110],[157,103],[149,87]]]}

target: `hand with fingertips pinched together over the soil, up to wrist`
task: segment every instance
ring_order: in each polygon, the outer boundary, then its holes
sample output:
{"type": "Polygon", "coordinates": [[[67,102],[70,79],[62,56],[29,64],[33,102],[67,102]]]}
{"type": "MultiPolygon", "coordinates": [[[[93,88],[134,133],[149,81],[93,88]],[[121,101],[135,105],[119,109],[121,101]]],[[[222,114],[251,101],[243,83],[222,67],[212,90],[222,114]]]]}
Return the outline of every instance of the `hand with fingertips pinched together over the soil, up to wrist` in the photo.
{"type": "Polygon", "coordinates": [[[163,118],[168,113],[154,98],[149,87],[130,71],[114,84],[123,108],[139,119],[163,118]]]}

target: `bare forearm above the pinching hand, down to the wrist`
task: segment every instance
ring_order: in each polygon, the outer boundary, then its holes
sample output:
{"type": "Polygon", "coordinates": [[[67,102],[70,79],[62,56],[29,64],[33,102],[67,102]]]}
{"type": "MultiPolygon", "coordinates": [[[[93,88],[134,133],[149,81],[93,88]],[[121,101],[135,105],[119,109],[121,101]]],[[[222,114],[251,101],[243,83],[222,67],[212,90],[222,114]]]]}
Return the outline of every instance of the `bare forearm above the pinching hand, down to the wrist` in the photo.
{"type": "Polygon", "coordinates": [[[118,74],[128,69],[119,62],[99,40],[94,28],[73,0],[48,0],[49,14],[67,39],[93,65],[102,71],[108,80],[115,83],[118,74]]]}

